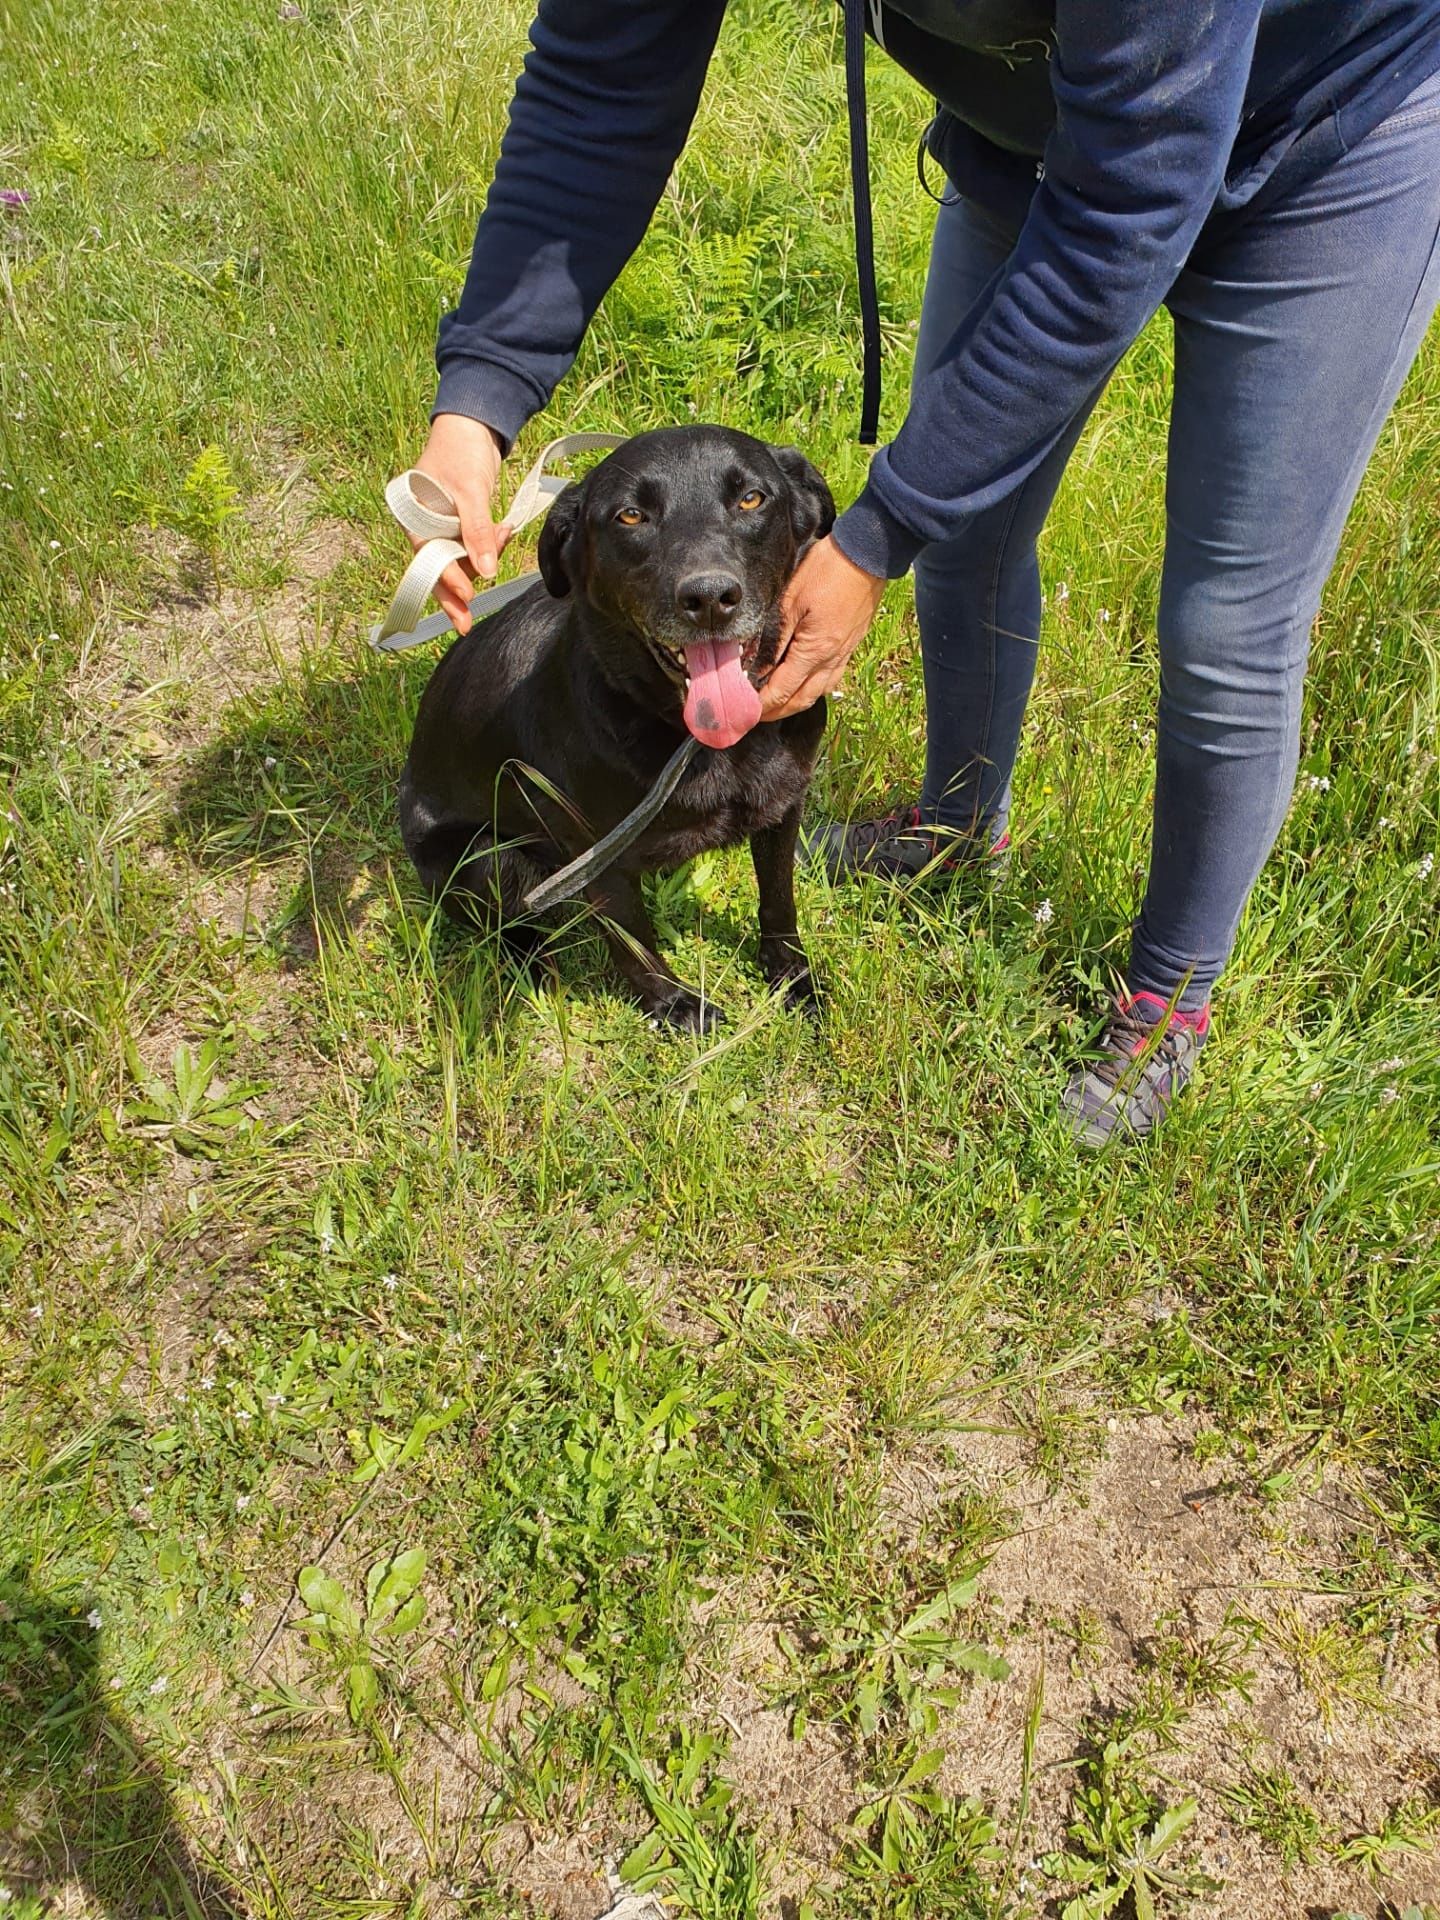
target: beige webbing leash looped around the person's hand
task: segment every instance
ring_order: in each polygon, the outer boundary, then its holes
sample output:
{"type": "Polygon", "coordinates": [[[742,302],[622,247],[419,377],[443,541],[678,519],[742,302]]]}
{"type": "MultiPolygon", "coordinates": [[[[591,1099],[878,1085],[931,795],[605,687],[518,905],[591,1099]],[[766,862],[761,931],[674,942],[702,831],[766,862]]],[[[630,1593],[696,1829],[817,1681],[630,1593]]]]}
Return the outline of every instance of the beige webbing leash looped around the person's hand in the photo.
{"type": "MultiPolygon", "coordinates": [[[[551,467],[566,461],[572,453],[599,453],[624,445],[622,434],[563,434],[540,449],[540,459],[515,490],[511,511],[505,515],[513,532],[528,526],[549,509],[557,493],[564,492],[566,480],[551,472],[551,467]]],[[[419,647],[426,639],[440,639],[449,634],[455,622],[447,612],[434,612],[420,618],[424,605],[451,561],[465,559],[461,545],[461,518],[455,501],[445,488],[422,474],[419,467],[396,474],[386,488],[386,507],[394,513],[407,534],[422,540],[411,564],[396,588],[390,609],[376,626],[371,628],[371,645],[380,653],[401,653],[405,647],[419,647]]],[[[484,588],[470,601],[470,618],[497,612],[509,601],[526,593],[540,574],[518,574],[493,588],[484,588]]]]}

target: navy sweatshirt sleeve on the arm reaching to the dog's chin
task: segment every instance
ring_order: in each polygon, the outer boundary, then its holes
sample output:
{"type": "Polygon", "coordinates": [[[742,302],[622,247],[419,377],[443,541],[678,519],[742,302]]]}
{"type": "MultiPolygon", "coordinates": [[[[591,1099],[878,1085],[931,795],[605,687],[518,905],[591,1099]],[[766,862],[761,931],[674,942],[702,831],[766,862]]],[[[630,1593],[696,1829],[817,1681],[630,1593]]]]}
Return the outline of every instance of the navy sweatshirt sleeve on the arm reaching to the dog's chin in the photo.
{"type": "Polygon", "coordinates": [[[897,578],[1039,467],[1160,307],[1225,179],[1260,0],[1058,0],[1056,125],[1016,250],[835,541],[897,578]]]}

